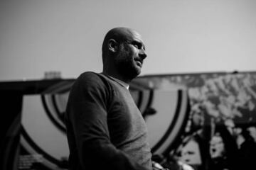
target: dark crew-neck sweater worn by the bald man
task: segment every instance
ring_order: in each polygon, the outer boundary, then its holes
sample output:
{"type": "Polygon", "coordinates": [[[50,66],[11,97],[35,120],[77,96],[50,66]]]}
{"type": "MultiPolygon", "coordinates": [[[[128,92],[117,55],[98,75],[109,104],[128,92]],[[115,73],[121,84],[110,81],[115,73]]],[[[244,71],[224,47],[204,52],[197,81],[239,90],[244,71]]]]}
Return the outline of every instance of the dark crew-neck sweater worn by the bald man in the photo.
{"type": "Polygon", "coordinates": [[[142,114],[122,84],[85,72],[75,80],[65,112],[70,169],[151,170],[142,114]]]}

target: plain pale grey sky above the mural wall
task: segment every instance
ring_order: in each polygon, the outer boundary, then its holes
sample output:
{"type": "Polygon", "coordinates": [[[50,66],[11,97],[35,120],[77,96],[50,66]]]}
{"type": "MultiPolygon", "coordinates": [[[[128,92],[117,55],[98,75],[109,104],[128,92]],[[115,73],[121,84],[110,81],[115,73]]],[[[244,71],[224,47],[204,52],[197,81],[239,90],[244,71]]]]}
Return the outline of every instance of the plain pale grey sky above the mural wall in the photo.
{"type": "Polygon", "coordinates": [[[108,30],[144,39],[142,75],[256,71],[254,0],[1,0],[0,80],[102,71],[108,30]]]}

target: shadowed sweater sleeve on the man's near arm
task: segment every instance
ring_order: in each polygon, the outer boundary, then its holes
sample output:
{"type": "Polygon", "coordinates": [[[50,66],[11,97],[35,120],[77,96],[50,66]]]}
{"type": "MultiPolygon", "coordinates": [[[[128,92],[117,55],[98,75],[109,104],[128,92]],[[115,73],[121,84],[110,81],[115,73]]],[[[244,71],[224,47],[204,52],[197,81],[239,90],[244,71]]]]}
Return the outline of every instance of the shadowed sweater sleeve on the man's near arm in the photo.
{"type": "Polygon", "coordinates": [[[96,74],[81,75],[68,100],[68,118],[82,169],[146,170],[110,142],[107,109],[111,91],[96,74]]]}

